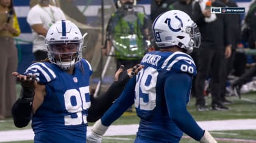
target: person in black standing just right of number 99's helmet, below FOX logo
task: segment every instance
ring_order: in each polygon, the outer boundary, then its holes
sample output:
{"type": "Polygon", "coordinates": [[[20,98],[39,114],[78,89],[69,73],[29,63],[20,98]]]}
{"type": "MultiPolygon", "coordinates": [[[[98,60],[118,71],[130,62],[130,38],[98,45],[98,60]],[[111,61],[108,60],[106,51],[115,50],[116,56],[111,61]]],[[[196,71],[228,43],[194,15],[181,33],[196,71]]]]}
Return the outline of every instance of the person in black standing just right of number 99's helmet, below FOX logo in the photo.
{"type": "Polygon", "coordinates": [[[205,105],[205,80],[210,77],[212,110],[228,110],[221,102],[221,63],[231,55],[230,25],[227,15],[211,13],[210,7],[226,7],[219,0],[197,1],[194,4],[193,19],[202,35],[198,49],[198,73],[195,81],[196,107],[198,111],[207,111],[205,105]]]}

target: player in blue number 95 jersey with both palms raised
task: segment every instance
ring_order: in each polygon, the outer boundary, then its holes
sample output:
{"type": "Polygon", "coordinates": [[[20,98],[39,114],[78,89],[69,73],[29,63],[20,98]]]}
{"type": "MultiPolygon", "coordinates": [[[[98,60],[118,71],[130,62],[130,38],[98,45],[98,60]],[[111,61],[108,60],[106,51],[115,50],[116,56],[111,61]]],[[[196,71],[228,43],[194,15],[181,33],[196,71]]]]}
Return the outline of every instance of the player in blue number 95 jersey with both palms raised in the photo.
{"type": "Polygon", "coordinates": [[[85,143],[87,122],[101,118],[143,66],[125,72],[120,68],[108,91],[94,97],[90,95],[93,71],[82,58],[84,38],[79,28],[70,21],[55,22],[45,41],[49,59],[30,65],[24,75],[12,73],[22,86],[12,108],[13,121],[16,127],[25,127],[32,118],[34,142],[85,143]]]}

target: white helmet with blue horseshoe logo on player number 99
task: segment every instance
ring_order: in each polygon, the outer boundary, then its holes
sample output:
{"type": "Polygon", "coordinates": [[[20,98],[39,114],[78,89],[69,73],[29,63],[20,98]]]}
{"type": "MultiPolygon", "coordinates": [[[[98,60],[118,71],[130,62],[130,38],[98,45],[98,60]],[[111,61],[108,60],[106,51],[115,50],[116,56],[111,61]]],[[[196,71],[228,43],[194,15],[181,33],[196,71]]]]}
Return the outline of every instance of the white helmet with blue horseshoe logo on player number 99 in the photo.
{"type": "Polygon", "coordinates": [[[180,10],[170,10],[159,15],[153,25],[155,44],[159,48],[177,45],[191,53],[201,43],[201,34],[196,23],[187,13],[180,10]]]}

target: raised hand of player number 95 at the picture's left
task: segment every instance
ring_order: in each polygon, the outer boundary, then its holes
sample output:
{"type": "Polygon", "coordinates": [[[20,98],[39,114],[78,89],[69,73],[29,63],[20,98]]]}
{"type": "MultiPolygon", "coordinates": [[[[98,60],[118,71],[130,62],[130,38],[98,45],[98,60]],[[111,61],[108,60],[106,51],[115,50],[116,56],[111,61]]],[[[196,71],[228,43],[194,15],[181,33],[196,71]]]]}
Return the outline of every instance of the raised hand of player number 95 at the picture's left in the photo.
{"type": "Polygon", "coordinates": [[[20,82],[21,86],[24,89],[32,89],[34,90],[37,85],[36,77],[32,74],[21,75],[20,73],[13,72],[13,76],[16,76],[16,80],[20,82]]]}

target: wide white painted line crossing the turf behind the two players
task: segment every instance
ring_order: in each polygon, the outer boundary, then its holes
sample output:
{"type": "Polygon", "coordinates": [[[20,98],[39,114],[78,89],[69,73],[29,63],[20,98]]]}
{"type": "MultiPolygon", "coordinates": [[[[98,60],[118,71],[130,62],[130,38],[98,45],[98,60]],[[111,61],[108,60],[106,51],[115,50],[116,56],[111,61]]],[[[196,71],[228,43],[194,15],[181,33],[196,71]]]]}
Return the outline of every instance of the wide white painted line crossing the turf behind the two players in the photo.
{"type": "MultiPolygon", "coordinates": [[[[256,119],[238,119],[222,121],[197,122],[208,131],[221,130],[256,130],[256,119]]],[[[88,127],[90,130],[91,127],[88,127]]],[[[136,135],[138,124],[112,125],[108,128],[105,136],[136,135]]],[[[0,131],[0,142],[33,140],[34,133],[31,129],[0,131]]]]}

